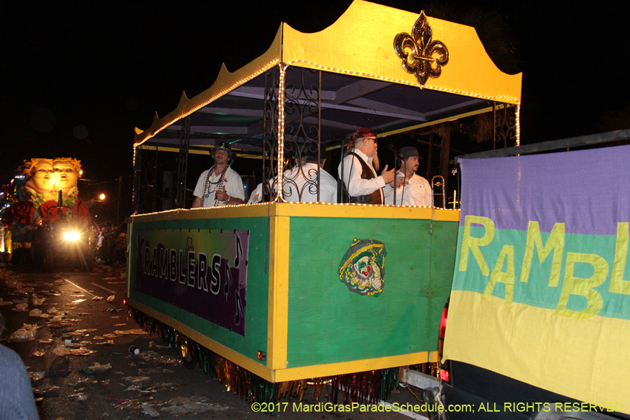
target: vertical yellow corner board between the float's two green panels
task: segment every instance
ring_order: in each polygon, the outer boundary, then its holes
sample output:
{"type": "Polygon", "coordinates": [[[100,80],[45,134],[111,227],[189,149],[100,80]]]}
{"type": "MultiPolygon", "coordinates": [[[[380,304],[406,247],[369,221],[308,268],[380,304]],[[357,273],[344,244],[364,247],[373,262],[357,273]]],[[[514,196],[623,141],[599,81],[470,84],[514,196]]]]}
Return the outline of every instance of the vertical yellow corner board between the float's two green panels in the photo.
{"type": "Polygon", "coordinates": [[[269,230],[267,367],[286,368],[290,218],[273,217],[269,230]]]}

